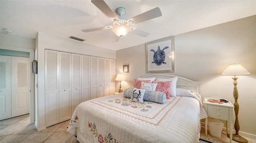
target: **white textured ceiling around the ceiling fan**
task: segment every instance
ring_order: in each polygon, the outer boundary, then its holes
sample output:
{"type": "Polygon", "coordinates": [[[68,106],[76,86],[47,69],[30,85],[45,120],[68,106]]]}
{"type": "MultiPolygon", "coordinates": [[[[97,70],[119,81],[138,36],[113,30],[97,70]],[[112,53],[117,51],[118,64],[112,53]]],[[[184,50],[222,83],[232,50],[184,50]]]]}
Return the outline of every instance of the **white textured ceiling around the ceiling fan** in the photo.
{"type": "MultiPolygon", "coordinates": [[[[126,8],[132,18],[159,7],[162,16],[133,27],[150,33],[140,37],[128,33],[113,43],[111,29],[84,33],[90,29],[112,25],[112,21],[90,0],[0,0],[0,32],[13,30],[13,35],[36,38],[37,32],[67,38],[72,35],[86,41],[82,43],[119,50],[157,39],[186,33],[212,25],[230,22],[256,14],[255,0],[105,0],[115,11],[126,8]]],[[[73,40],[73,39],[70,39],[73,40]]],[[[78,41],[80,42],[80,41],[78,41]]]]}

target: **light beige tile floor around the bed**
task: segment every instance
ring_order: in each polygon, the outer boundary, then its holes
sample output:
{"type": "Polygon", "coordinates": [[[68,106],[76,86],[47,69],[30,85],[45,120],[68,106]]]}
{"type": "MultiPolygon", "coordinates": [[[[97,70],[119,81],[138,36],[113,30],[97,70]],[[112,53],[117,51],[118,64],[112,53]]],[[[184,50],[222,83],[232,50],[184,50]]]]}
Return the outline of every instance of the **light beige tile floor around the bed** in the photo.
{"type": "MultiPolygon", "coordinates": [[[[29,124],[29,114],[5,119],[0,121],[0,143],[79,143],[74,135],[66,132],[69,121],[52,125],[38,132],[35,124],[29,124]]],[[[248,143],[256,143],[256,139],[249,137],[246,139],[248,143]]],[[[229,143],[229,138],[222,135],[220,141],[229,143]]],[[[232,141],[232,143],[237,142],[232,141]]]]}

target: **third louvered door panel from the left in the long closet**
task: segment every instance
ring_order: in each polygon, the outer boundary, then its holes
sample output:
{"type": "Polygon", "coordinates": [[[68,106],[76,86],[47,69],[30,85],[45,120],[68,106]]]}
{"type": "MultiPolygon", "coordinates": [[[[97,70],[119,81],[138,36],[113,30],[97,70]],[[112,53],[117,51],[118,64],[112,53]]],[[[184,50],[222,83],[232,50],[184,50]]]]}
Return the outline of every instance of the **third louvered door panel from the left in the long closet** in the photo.
{"type": "Polygon", "coordinates": [[[71,54],[71,103],[72,114],[81,103],[81,55],[71,54]]]}

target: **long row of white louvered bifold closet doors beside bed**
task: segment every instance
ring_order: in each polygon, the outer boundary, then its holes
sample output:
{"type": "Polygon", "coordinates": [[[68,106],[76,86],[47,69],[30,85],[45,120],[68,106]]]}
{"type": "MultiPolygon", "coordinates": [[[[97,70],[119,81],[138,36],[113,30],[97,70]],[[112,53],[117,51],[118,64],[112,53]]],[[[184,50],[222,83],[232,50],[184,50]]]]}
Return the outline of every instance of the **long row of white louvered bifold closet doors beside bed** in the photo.
{"type": "Polygon", "coordinates": [[[46,49],[46,127],[70,119],[81,102],[114,93],[114,78],[114,59],[46,49]]]}

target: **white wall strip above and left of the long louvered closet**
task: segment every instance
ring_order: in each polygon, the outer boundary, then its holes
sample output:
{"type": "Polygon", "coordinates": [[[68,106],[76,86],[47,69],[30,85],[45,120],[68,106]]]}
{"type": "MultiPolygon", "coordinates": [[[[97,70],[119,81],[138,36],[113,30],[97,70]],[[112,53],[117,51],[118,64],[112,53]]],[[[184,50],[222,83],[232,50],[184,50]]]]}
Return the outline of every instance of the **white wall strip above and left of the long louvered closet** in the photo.
{"type": "Polygon", "coordinates": [[[38,32],[36,37],[36,56],[38,58],[38,93],[36,97],[36,127],[38,131],[45,126],[45,89],[44,89],[44,49],[79,53],[96,57],[116,59],[116,51],[88,45],[72,39],[64,39],[54,35],[38,32]]]}

